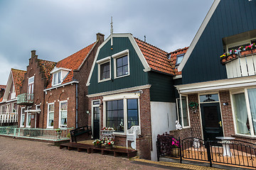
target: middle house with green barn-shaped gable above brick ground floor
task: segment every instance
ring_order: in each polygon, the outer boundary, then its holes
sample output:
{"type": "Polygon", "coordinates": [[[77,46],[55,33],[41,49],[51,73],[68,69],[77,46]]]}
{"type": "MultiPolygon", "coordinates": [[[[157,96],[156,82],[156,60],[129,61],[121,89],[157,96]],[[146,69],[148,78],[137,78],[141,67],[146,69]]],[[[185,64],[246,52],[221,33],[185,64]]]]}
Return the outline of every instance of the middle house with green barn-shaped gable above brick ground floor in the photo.
{"type": "Polygon", "coordinates": [[[156,160],[156,136],[175,128],[174,75],[164,50],[129,33],[111,34],[87,81],[93,138],[100,128],[113,127],[115,145],[126,146],[127,130],[139,125],[139,157],[156,160]]]}

